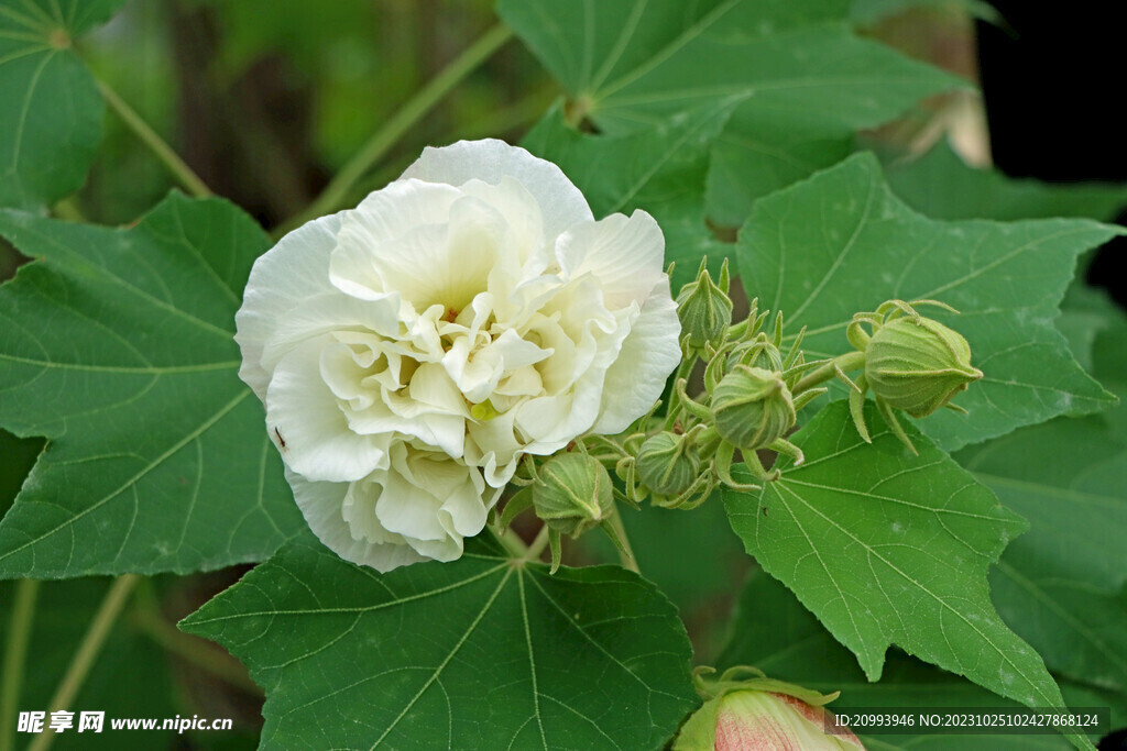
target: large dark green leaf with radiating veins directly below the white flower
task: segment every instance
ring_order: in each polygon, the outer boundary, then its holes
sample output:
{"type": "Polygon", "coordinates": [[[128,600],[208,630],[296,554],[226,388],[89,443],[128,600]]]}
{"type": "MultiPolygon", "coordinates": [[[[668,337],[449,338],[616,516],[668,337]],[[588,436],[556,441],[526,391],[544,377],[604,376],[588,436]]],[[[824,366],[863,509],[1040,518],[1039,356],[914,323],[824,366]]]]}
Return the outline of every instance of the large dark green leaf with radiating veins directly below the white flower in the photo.
{"type": "Polygon", "coordinates": [[[266,689],[263,748],[660,749],[696,704],[668,600],[471,547],[376,574],[294,543],[181,628],[266,689]]]}

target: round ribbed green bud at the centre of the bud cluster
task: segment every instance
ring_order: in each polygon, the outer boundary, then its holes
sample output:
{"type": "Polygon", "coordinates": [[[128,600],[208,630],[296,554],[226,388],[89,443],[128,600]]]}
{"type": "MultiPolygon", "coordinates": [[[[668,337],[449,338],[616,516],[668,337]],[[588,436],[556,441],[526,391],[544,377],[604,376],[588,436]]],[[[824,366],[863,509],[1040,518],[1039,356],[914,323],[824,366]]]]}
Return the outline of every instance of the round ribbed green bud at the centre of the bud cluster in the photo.
{"type": "Polygon", "coordinates": [[[795,402],[778,373],[737,365],[712,392],[716,431],[745,450],[763,448],[795,426],[795,402]]]}

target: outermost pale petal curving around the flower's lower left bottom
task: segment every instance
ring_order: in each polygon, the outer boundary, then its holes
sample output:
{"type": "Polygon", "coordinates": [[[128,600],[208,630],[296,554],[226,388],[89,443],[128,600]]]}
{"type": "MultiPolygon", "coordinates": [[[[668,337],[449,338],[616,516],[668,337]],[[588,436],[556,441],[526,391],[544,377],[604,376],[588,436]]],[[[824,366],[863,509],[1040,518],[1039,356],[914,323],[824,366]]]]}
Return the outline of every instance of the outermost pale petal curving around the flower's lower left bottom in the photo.
{"type": "Polygon", "coordinates": [[[426,560],[406,542],[392,542],[402,539],[398,536],[390,536],[389,542],[382,543],[354,537],[343,515],[349,483],[310,482],[289,468],[285,477],[309,528],[326,547],[345,561],[378,571],[391,571],[426,560]]]}

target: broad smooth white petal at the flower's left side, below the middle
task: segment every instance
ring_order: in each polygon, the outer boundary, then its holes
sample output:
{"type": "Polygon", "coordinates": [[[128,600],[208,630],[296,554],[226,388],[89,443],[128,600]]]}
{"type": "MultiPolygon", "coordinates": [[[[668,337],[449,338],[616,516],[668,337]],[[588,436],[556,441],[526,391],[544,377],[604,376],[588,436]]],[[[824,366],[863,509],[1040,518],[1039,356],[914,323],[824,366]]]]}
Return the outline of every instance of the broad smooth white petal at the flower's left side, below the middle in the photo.
{"type": "Polygon", "coordinates": [[[307,341],[282,358],[266,390],[266,424],[282,458],[308,480],[348,482],[387,466],[390,436],[361,436],[348,427],[321,378],[321,350],[330,337],[307,341]],[[281,445],[285,441],[285,446],[281,445]]]}

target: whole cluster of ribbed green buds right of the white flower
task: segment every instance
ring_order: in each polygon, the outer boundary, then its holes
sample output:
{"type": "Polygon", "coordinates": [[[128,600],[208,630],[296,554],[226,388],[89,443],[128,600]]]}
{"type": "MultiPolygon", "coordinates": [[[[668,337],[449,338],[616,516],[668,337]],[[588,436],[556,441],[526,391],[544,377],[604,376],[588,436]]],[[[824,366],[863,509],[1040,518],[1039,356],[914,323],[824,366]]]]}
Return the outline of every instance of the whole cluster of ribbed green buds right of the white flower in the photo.
{"type": "Polygon", "coordinates": [[[855,351],[808,363],[801,350],[805,329],[790,338],[783,354],[788,337],[782,314],[775,313],[772,330],[764,330],[769,313],[758,311],[757,301],[745,320],[733,324],[728,284],[727,261],[719,285],[702,262],[696,279],[677,296],[683,359],[664,418],[654,415],[658,403],[618,438],[587,436],[540,464],[525,456],[513,480],[524,488],[505,506],[499,525],[504,529],[517,513],[534,509],[544,521],[553,571],[560,537],[578,537],[595,527],[632,562],[615,500],[638,508],[648,498],[658,507],[692,509],[721,484],[760,490],[760,484],[733,477],[737,453],[757,483],[780,476],[778,468],[764,467],[764,458],[782,455],[801,465],[802,452],[788,436],[799,411],[826,392],[819,384],[835,376],[850,386],[850,410],[862,438],[869,440],[863,409],[872,391],[889,428],[912,448],[894,410],[922,418],[941,406],[958,409],[951,399],[983,375],[970,365],[966,339],[913,307],[947,307],[942,303],[889,301],[875,312],[858,313],[846,330],[855,351]],[[703,390],[691,397],[686,388],[698,363],[704,364],[703,390]],[[861,374],[854,381],[848,370],[861,374]]]}

